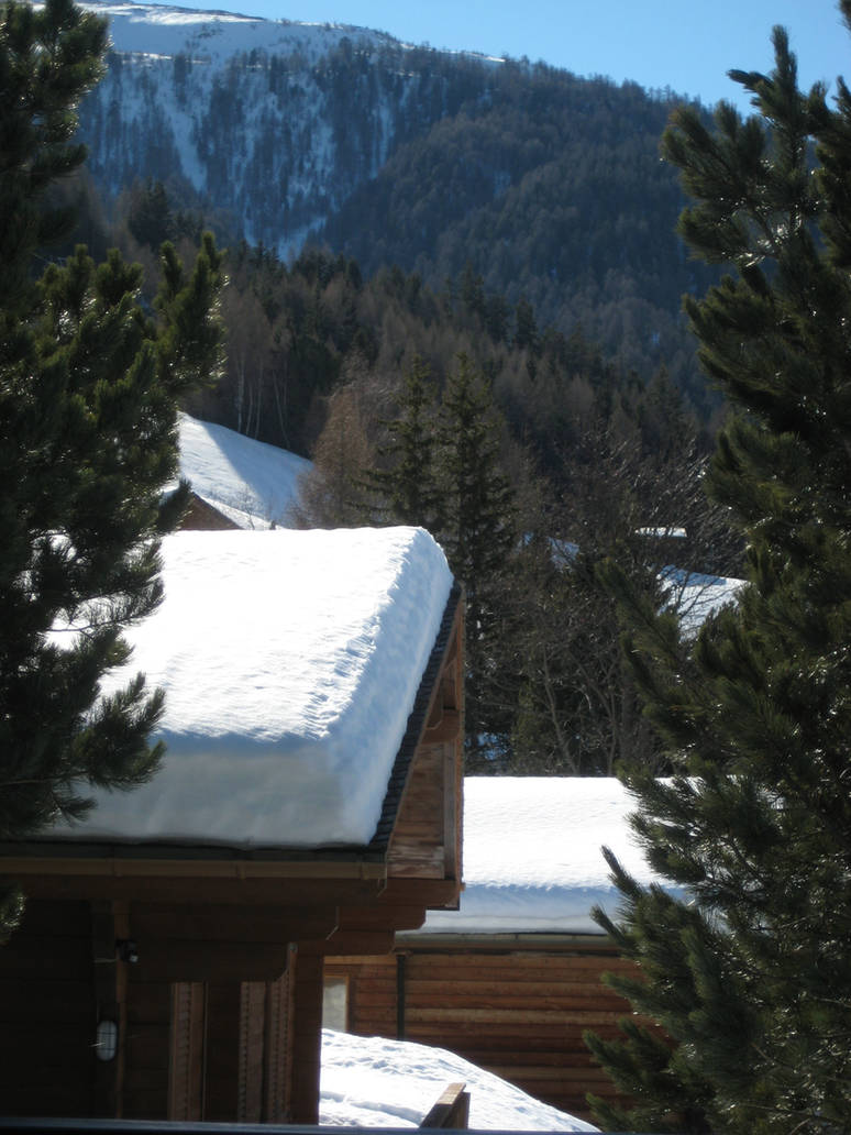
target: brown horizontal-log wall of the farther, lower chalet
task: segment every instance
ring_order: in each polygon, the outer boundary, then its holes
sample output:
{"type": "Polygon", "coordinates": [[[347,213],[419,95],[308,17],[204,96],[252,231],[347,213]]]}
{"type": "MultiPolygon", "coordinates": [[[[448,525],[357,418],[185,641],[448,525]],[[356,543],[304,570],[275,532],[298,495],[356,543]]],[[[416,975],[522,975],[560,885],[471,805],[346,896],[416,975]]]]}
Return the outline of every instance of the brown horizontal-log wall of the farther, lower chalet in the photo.
{"type": "Polygon", "coordinates": [[[618,1099],[582,1033],[618,1035],[630,1006],[600,982],[633,974],[605,939],[489,945],[405,943],[389,958],[335,958],[348,978],[348,1027],[448,1049],[580,1119],[585,1093],[618,1099]]]}

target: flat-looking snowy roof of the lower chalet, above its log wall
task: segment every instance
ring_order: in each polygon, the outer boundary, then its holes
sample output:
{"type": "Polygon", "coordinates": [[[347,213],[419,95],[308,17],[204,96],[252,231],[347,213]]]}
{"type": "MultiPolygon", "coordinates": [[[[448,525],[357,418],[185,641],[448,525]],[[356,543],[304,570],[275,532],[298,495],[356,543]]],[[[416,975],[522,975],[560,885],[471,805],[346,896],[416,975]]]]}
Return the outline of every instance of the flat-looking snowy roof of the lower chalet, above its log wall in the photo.
{"type": "Polygon", "coordinates": [[[613,777],[467,776],[461,909],[430,911],[416,933],[601,933],[591,907],[615,915],[618,892],[600,848],[656,878],[627,823],[634,808],[613,777]]]}

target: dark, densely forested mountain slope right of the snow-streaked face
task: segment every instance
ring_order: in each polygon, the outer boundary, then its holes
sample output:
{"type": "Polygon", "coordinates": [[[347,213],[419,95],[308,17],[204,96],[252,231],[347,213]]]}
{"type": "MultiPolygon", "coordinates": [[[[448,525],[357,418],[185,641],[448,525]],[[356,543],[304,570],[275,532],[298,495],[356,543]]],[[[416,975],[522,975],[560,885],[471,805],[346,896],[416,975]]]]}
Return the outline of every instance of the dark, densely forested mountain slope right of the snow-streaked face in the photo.
{"type": "MultiPolygon", "coordinates": [[[[427,82],[450,66],[432,60],[427,82]]],[[[319,239],[366,275],[398,264],[436,288],[471,264],[488,291],[526,299],[564,334],[581,327],[623,369],[647,379],[664,361],[705,411],[679,308],[716,272],[688,260],[675,233],[682,194],[658,154],[675,104],[637,84],[507,61],[485,92],[401,145],[319,239]]]]}

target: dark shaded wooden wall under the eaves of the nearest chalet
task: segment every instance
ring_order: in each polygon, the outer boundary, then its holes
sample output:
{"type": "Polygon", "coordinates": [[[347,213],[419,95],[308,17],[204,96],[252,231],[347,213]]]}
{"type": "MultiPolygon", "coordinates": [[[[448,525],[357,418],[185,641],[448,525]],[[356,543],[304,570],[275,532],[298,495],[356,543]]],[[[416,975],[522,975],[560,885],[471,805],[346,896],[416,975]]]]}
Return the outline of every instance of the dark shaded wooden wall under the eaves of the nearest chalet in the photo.
{"type": "Polygon", "coordinates": [[[288,1121],[295,950],[275,981],[169,981],[116,949],[132,930],[127,903],[27,902],[0,948],[5,1113],[288,1121]]]}

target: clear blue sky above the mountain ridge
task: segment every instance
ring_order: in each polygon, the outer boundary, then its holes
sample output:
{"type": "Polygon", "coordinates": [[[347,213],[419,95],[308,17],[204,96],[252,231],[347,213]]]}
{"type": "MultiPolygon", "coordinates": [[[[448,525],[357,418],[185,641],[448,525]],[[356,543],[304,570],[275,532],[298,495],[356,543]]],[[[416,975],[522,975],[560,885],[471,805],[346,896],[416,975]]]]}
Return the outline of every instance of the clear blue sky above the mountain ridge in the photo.
{"type": "Polygon", "coordinates": [[[389,32],[433,48],[508,52],[669,86],[703,102],[747,99],[731,67],[767,70],[774,24],[784,24],[802,82],[851,83],[851,35],[835,0],[175,0],[270,19],[322,20],[389,32]]]}

